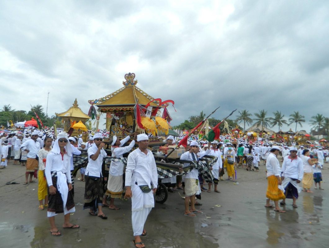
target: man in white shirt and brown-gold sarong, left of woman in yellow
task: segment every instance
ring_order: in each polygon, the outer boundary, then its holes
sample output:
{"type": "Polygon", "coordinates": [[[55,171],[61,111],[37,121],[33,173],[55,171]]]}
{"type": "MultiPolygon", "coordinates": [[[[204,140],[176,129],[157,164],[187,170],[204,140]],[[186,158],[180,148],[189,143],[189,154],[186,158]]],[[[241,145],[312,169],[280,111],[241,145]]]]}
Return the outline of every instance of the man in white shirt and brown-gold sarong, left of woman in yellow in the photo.
{"type": "Polygon", "coordinates": [[[38,139],[38,130],[34,130],[30,140],[25,141],[21,145],[21,149],[28,152],[27,153],[27,161],[26,161],[26,173],[25,173],[25,184],[28,182],[33,183],[32,176],[34,171],[39,168],[38,156],[40,150],[40,143],[37,141],[38,139]],[[30,174],[30,180],[28,181],[28,177],[30,174]]]}

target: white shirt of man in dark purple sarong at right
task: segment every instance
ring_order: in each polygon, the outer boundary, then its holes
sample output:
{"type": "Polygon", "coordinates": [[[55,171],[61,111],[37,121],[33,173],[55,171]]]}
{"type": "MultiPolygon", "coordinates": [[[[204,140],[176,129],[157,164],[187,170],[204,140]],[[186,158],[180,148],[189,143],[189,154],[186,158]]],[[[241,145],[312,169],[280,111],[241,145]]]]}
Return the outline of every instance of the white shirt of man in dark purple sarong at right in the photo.
{"type": "Polygon", "coordinates": [[[283,159],[281,171],[283,172],[282,176],[295,178],[301,181],[304,175],[303,160],[298,156],[297,159],[292,160],[289,156],[286,156],[283,159]]]}

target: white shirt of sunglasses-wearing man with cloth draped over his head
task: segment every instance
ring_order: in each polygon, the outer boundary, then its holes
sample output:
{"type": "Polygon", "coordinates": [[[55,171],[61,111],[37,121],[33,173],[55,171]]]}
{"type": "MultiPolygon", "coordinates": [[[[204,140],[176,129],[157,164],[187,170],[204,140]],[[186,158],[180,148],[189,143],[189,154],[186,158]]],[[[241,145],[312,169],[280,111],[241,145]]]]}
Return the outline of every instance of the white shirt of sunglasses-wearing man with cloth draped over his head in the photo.
{"type": "Polygon", "coordinates": [[[53,185],[51,179],[51,171],[64,172],[66,174],[67,183],[72,183],[71,181],[71,170],[70,170],[70,157],[67,153],[62,154],[50,152],[46,158],[46,179],[48,186],[53,185]]]}

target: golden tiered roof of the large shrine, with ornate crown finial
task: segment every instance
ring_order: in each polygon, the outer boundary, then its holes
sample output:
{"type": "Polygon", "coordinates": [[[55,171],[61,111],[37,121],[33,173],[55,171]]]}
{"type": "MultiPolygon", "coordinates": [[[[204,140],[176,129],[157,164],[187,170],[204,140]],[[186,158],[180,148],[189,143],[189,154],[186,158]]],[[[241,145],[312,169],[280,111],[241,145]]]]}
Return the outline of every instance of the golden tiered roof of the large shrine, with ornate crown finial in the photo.
{"type": "MultiPolygon", "coordinates": [[[[122,82],[124,87],[103,98],[88,102],[99,107],[102,112],[133,111],[136,103],[145,106],[154,99],[136,86],[135,73],[127,73],[124,77],[126,79],[122,82]]],[[[151,102],[150,106],[157,107],[158,105],[151,102]]]]}

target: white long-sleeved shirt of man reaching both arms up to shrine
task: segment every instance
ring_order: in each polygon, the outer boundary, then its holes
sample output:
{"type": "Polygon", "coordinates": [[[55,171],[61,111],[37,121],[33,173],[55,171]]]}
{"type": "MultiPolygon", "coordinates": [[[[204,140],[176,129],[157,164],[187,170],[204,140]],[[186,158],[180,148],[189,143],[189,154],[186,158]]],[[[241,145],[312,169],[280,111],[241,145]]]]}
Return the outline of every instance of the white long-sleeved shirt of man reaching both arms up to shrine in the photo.
{"type": "MultiPolygon", "coordinates": [[[[133,140],[129,146],[122,147],[128,140],[130,139],[130,136],[127,136],[123,140],[120,141],[120,146],[119,147],[112,147],[112,157],[116,158],[122,158],[123,154],[129,152],[134,146],[135,146],[135,141],[133,140]]],[[[110,171],[109,173],[112,176],[121,176],[123,175],[123,168],[124,164],[120,161],[111,161],[110,165],[110,171]]]]}

